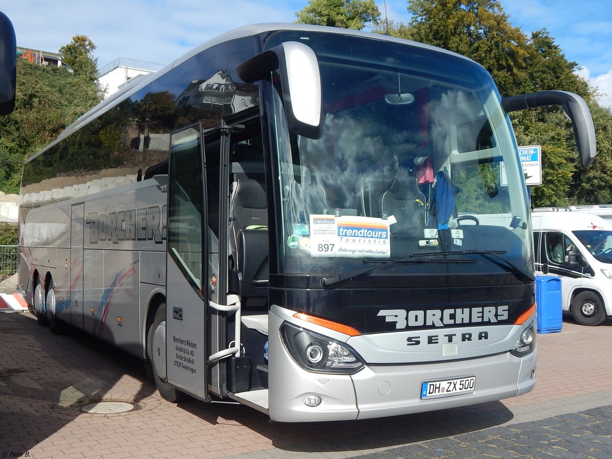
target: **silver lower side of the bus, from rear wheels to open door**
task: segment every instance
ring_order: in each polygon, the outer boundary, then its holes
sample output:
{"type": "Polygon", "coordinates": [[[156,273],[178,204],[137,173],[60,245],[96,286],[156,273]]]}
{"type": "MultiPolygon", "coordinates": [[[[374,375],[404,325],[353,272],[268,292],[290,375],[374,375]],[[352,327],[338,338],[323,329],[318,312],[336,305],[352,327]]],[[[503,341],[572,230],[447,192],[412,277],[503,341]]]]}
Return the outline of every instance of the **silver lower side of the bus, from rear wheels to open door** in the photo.
{"type": "Polygon", "coordinates": [[[31,209],[23,296],[31,304],[30,280],[50,275],[59,319],[143,358],[147,301],[165,295],[163,212],[154,179],[31,209]]]}

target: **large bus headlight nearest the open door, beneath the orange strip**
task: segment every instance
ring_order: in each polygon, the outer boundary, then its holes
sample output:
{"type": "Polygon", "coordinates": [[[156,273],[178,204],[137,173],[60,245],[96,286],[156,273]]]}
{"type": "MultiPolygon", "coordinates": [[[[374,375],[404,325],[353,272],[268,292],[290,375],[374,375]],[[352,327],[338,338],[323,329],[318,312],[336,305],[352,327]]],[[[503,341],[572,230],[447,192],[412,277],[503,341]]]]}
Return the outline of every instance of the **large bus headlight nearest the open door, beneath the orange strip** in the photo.
{"type": "Polygon", "coordinates": [[[333,338],[287,322],[280,327],[280,336],[289,355],[305,370],[352,375],[364,367],[363,360],[351,346],[333,338]]]}

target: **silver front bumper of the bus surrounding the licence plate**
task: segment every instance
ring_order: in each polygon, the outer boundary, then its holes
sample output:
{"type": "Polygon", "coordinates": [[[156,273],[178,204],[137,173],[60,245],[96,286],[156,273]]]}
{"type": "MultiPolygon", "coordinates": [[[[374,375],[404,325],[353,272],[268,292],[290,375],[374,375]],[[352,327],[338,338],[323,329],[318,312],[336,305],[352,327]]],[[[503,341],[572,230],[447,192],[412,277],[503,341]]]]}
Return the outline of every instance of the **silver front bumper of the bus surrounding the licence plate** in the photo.
{"type": "MultiPolygon", "coordinates": [[[[319,333],[326,330],[293,318],[293,314],[292,311],[273,305],[269,315],[270,329],[277,330],[283,321],[288,321],[319,333]]],[[[513,329],[522,330],[523,327],[517,326],[513,329]]],[[[512,335],[514,331],[512,330],[512,335]]],[[[330,333],[329,329],[326,330],[326,334],[333,335],[334,338],[341,336],[337,332],[330,333]]],[[[390,356],[395,356],[398,362],[406,360],[403,353],[398,350],[379,349],[376,353],[371,345],[376,340],[368,338],[369,350],[359,346],[359,338],[363,338],[361,341],[365,342],[365,338],[368,337],[349,338],[345,335],[344,341],[357,346],[354,349],[360,348],[372,357],[387,352],[390,356]]],[[[289,356],[278,333],[272,333],[269,357],[269,414],[272,420],[283,422],[367,419],[514,397],[525,394],[534,387],[535,379],[532,372],[535,370],[535,356],[536,352],[533,352],[520,359],[504,352],[449,361],[439,352],[435,359],[428,362],[394,365],[389,358],[387,364],[366,364],[354,375],[330,375],[303,370],[289,356]],[[517,374],[517,379],[509,377],[517,374]],[[476,390],[472,394],[421,400],[420,389],[423,382],[460,376],[476,376],[476,390]],[[307,395],[321,397],[321,405],[306,406],[304,398],[307,395]]]]}

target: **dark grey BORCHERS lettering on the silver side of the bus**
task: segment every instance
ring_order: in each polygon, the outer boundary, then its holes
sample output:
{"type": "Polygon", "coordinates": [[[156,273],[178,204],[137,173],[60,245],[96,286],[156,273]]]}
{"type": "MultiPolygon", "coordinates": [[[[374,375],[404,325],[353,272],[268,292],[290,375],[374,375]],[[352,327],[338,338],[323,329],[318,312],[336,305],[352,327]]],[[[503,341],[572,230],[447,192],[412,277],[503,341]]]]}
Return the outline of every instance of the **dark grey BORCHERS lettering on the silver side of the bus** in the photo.
{"type": "Polygon", "coordinates": [[[166,212],[168,206],[141,207],[128,211],[99,214],[89,212],[85,224],[89,227],[89,243],[99,241],[155,241],[166,239],[166,212]]]}

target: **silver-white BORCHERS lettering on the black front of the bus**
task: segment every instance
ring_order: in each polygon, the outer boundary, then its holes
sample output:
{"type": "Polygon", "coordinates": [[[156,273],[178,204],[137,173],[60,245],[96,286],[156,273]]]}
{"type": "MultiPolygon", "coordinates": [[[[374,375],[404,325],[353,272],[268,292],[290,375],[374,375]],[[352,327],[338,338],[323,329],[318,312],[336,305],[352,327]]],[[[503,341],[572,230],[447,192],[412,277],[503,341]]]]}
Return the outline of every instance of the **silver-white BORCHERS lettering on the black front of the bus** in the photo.
{"type": "Polygon", "coordinates": [[[395,323],[395,329],[416,327],[447,327],[467,324],[494,324],[508,319],[508,305],[456,309],[384,309],[378,312],[386,322],[395,323]]]}

